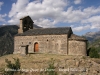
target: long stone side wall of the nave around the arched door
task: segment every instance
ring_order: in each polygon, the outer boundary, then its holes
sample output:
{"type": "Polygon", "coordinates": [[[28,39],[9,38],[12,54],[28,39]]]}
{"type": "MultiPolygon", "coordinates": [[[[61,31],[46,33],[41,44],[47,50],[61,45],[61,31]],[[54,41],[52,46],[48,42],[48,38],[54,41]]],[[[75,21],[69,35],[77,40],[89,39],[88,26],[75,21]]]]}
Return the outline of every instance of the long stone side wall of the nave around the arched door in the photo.
{"type": "Polygon", "coordinates": [[[28,53],[34,53],[35,43],[38,43],[40,53],[67,54],[67,37],[67,35],[15,36],[14,54],[24,52],[21,51],[23,46],[28,46],[28,53]]]}

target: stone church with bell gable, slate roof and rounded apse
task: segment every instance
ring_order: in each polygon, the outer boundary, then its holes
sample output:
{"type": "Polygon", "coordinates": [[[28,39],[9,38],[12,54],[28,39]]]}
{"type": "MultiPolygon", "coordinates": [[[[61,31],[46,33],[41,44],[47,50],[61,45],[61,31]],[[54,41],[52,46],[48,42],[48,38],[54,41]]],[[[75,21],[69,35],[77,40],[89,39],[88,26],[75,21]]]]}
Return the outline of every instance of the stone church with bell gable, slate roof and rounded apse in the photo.
{"type": "Polygon", "coordinates": [[[14,37],[14,54],[50,53],[86,56],[87,40],[73,34],[71,27],[34,28],[29,16],[20,19],[14,37]]]}

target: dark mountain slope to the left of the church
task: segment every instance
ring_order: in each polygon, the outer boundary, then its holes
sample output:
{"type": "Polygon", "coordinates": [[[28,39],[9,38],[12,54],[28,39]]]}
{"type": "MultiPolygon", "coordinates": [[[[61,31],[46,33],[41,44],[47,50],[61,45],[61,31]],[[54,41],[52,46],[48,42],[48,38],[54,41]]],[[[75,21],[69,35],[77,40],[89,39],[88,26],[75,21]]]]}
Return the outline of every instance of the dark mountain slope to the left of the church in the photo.
{"type": "Polygon", "coordinates": [[[14,35],[17,34],[18,26],[8,25],[0,27],[0,56],[13,53],[14,35]]]}

